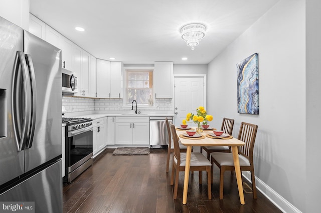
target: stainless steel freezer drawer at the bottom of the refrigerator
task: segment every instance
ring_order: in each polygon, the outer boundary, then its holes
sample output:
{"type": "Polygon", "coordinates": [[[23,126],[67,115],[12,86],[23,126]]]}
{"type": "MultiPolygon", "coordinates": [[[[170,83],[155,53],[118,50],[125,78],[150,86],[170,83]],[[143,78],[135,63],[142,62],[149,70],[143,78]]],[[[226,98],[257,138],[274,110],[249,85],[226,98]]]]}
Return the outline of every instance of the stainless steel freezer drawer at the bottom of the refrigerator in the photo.
{"type": "Polygon", "coordinates": [[[62,160],[0,194],[0,201],[34,201],[35,212],[62,212],[62,160]]]}

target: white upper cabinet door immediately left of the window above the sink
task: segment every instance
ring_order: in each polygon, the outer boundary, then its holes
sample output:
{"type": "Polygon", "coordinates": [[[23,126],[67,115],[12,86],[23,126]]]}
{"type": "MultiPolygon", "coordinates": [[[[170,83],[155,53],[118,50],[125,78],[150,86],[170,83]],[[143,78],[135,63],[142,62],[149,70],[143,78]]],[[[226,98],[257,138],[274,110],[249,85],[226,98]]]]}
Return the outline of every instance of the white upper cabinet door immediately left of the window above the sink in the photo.
{"type": "Polygon", "coordinates": [[[123,63],[121,61],[110,62],[110,97],[120,98],[121,95],[121,70],[123,63]]]}

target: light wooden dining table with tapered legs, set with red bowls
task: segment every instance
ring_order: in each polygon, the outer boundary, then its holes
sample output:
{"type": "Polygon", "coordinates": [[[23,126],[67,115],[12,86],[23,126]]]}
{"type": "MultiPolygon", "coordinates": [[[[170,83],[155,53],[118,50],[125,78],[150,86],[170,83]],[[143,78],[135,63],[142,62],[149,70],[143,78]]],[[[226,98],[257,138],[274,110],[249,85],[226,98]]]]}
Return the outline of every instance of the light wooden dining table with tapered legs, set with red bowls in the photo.
{"type": "MultiPolygon", "coordinates": [[[[195,127],[194,127],[194,129],[195,129],[195,127]]],[[[184,133],[186,133],[186,130],[176,128],[176,133],[177,133],[177,135],[184,134],[184,133]]],[[[244,201],[241,169],[240,169],[240,162],[239,162],[237,147],[244,145],[245,142],[243,142],[235,137],[230,138],[230,139],[207,137],[206,134],[213,133],[213,130],[212,131],[204,130],[203,132],[200,132],[200,133],[203,134],[205,136],[205,138],[202,137],[201,139],[196,139],[194,137],[193,138],[186,138],[186,137],[179,136],[182,144],[187,146],[185,176],[184,176],[184,189],[183,189],[183,204],[186,204],[186,202],[187,202],[187,190],[188,190],[188,184],[189,184],[189,173],[190,173],[192,146],[212,146],[212,145],[215,146],[215,145],[217,145],[217,146],[231,146],[233,160],[234,160],[237,187],[238,187],[239,196],[240,196],[240,202],[241,202],[241,204],[244,205],[245,201],[244,201]]]]}

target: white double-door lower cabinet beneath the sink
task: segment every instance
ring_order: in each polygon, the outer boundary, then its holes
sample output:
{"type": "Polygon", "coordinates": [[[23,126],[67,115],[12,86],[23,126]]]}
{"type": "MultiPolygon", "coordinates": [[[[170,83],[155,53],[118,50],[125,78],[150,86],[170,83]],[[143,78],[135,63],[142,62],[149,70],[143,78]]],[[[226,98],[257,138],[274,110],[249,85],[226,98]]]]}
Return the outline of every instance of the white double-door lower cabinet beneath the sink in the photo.
{"type": "Polygon", "coordinates": [[[116,145],[149,145],[148,116],[116,116],[116,145]]]}

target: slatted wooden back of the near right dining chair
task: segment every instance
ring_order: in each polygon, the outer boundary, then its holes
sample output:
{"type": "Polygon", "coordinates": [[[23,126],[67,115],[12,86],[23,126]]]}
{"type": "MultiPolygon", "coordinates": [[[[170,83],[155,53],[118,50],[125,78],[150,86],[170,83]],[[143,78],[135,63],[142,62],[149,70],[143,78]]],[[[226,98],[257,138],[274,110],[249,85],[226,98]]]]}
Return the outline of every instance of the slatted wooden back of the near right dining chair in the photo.
{"type": "Polygon", "coordinates": [[[257,132],[257,125],[242,122],[240,126],[240,131],[238,139],[245,142],[243,146],[239,146],[239,153],[246,156],[253,161],[253,148],[257,132]]]}

